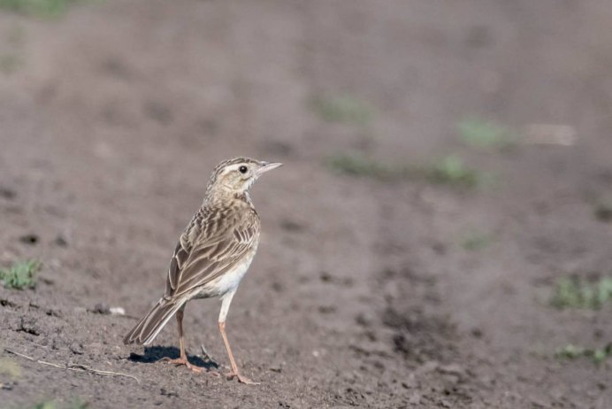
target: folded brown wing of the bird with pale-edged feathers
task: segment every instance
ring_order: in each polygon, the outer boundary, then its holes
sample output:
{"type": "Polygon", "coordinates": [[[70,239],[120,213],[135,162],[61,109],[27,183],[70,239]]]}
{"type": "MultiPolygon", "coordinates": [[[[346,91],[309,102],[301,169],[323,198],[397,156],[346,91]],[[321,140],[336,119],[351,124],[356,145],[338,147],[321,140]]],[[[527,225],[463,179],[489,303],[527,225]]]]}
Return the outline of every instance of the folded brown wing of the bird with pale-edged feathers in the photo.
{"type": "Polygon", "coordinates": [[[231,270],[256,245],[258,223],[255,212],[227,223],[196,215],[174,250],[165,297],[184,296],[231,270]]]}

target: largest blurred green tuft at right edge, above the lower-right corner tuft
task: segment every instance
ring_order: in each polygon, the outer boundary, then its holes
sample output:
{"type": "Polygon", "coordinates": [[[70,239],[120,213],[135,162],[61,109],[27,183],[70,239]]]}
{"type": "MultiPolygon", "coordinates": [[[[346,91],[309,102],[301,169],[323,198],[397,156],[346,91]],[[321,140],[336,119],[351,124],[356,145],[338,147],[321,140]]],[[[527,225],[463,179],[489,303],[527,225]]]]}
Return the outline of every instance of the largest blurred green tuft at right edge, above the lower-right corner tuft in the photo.
{"type": "Polygon", "coordinates": [[[585,282],[578,277],[562,277],[555,282],[550,305],[556,308],[597,310],[612,299],[612,277],[585,282]]]}

